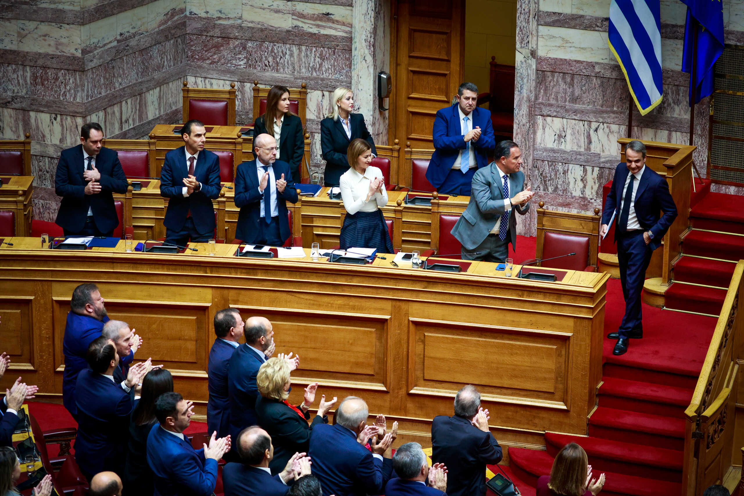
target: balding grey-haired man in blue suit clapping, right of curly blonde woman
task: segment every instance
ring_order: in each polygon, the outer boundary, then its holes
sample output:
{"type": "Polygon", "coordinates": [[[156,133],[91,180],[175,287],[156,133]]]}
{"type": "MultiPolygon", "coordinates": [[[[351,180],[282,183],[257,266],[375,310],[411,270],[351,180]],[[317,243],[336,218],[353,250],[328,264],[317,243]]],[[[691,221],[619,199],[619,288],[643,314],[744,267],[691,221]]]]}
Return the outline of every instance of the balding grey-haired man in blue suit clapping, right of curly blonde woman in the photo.
{"type": "Polygon", "coordinates": [[[336,425],[312,429],[308,454],[323,496],[379,495],[385,489],[393,471],[391,445],[397,429],[378,441],[378,428],[368,427],[368,416],[365,401],[348,396],[336,410],[336,425]],[[368,441],[371,452],[365,448],[368,441]]]}

